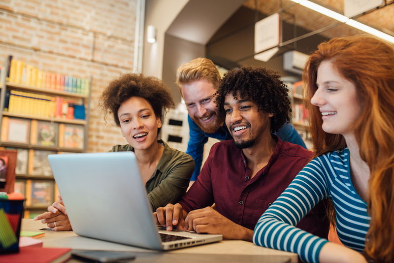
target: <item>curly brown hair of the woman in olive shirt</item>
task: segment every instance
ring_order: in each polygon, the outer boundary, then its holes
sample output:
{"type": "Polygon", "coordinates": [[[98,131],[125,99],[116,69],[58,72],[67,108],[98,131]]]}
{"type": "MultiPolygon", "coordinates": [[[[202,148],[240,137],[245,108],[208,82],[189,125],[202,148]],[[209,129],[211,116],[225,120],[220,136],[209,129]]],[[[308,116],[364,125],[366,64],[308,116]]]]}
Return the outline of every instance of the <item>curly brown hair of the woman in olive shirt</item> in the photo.
{"type": "Polygon", "coordinates": [[[119,107],[131,97],[146,99],[156,117],[160,119],[168,108],[174,107],[170,91],[161,80],[135,73],[124,74],[112,80],[100,97],[100,106],[105,113],[111,114],[116,125],[120,126],[119,107]]]}

